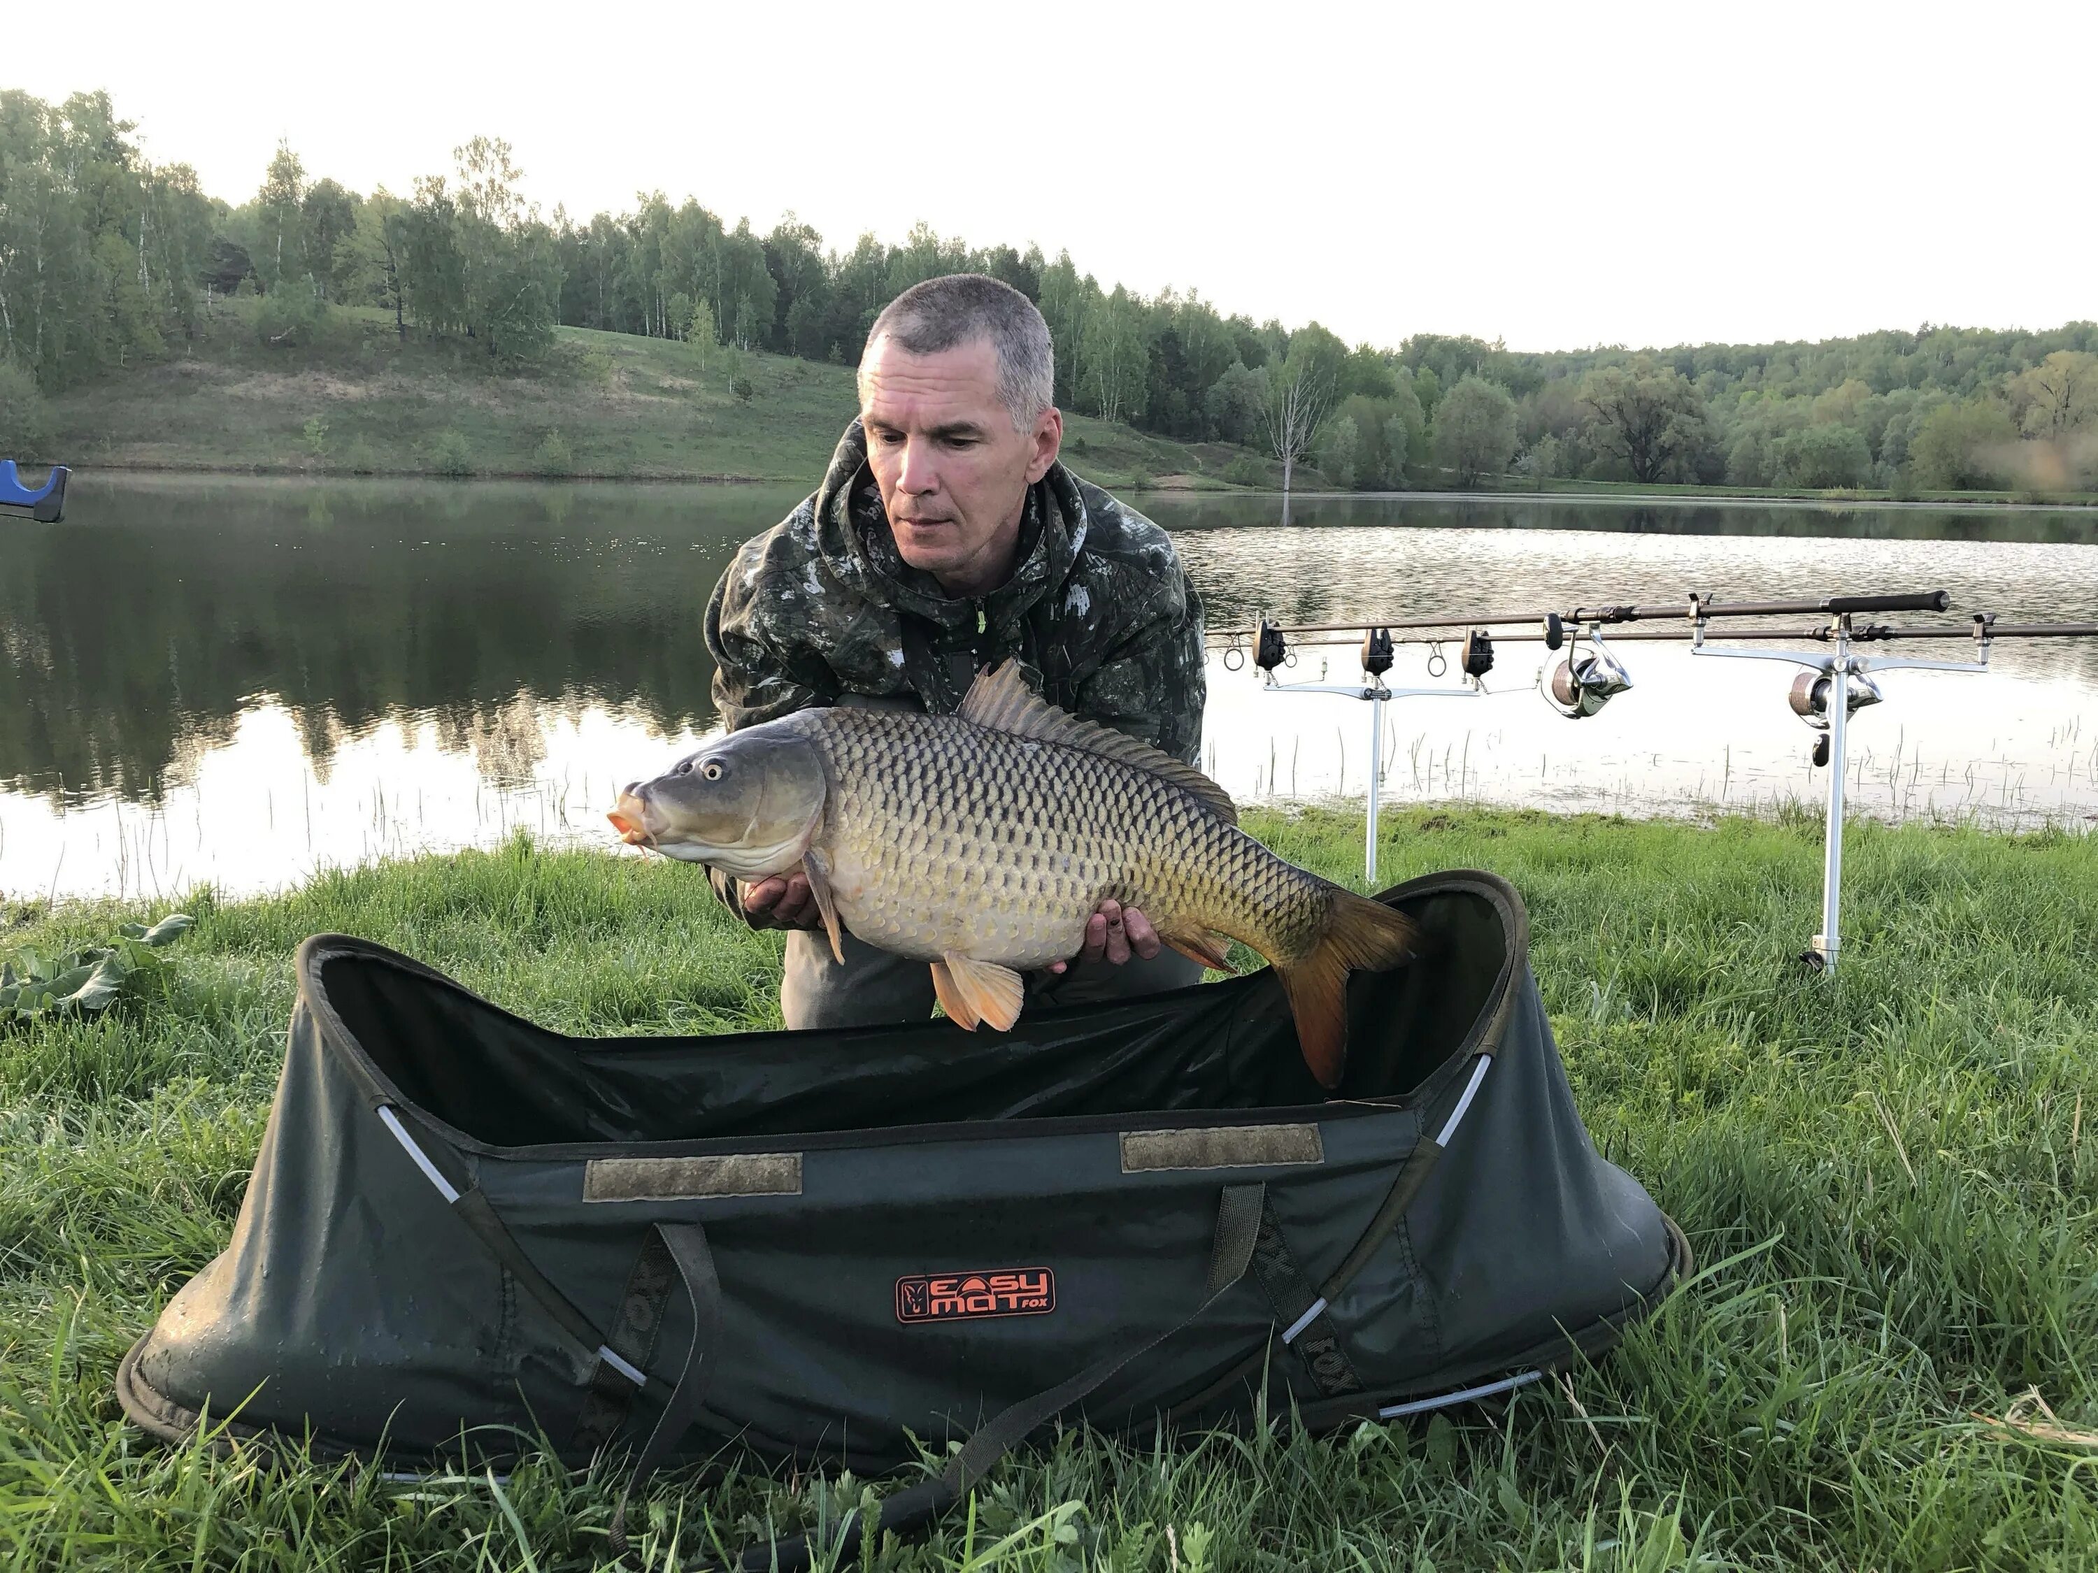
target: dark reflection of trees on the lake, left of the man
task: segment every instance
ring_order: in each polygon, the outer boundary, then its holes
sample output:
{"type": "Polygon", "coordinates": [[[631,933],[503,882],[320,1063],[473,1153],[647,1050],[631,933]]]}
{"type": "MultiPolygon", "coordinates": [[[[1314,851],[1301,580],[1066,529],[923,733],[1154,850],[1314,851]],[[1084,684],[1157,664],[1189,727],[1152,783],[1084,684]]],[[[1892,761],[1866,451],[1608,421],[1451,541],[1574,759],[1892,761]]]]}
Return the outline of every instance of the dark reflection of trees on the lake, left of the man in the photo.
{"type": "MultiPolygon", "coordinates": [[[[776,489],[157,482],[78,487],[8,533],[0,782],[153,801],[283,707],[321,772],[426,715],[441,747],[516,705],[659,730],[711,717],[701,612],[776,489]]],[[[512,757],[531,768],[527,753],[512,757]]]]}

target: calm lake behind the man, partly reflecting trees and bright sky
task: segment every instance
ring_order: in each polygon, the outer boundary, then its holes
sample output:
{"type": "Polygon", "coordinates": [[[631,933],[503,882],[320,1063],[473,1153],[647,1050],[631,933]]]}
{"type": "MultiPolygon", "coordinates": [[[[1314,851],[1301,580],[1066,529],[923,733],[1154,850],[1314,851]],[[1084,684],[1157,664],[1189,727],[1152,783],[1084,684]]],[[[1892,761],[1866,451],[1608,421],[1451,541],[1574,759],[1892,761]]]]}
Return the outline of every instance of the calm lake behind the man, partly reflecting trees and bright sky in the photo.
{"type": "MultiPolygon", "coordinates": [[[[617,784],[713,726],[701,612],[764,487],[82,476],[0,518],[0,891],[155,896],[487,845],[606,845],[617,784]]],[[[2098,512],[1150,493],[1213,629],[1534,604],[1936,589],[1955,615],[2098,619],[2098,512]]],[[[1901,619],[1894,619],[1901,621],[1901,619]]],[[[1792,619],[1804,627],[1806,619],[1792,619]]],[[[1905,650],[1907,652],[1907,650],[1905,650]]],[[[1387,801],[1689,814],[1817,801],[1796,667],[1624,644],[1634,690],[1565,721],[1544,650],[1485,696],[1387,713],[1387,801]]],[[[1918,652],[1920,654],[1920,652],[1918,652]]],[[[1962,659],[1964,646],[1945,654],[1962,659]]],[[[1393,686],[1427,686],[1401,648],[1393,686]]],[[[1206,766],[1242,799],[1360,799],[1368,707],[1211,661],[1206,766]]],[[[1305,648],[1280,675],[1357,675],[1305,648]]],[[[1450,686],[1450,680],[1441,680],[1450,686]]],[[[1890,673],[1859,812],[2098,822],[2098,640],[1890,673]]]]}

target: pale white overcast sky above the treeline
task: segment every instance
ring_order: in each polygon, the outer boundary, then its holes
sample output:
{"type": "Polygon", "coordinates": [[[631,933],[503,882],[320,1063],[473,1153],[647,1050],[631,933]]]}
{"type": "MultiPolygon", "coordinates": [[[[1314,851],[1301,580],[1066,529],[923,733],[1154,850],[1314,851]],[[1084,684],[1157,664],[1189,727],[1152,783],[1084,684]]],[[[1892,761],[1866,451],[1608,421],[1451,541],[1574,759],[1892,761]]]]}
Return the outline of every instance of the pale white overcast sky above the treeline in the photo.
{"type": "Polygon", "coordinates": [[[8,10],[0,86],[235,201],[279,136],[405,191],[489,132],[545,210],[923,218],[1376,344],[2098,317],[2092,0],[8,10]]]}

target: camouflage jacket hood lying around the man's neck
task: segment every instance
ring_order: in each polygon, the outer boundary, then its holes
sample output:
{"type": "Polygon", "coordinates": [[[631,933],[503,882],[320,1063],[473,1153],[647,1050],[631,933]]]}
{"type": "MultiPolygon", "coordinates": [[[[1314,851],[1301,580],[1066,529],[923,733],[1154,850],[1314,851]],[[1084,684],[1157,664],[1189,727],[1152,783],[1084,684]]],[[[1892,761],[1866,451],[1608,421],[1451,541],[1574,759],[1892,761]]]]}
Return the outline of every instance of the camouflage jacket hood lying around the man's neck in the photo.
{"type": "Polygon", "coordinates": [[[1089,524],[1076,478],[1062,464],[1051,464],[1049,474],[1028,487],[1013,575],[982,602],[948,596],[940,581],[913,568],[896,550],[866,464],[866,432],[860,422],[852,422],[839,438],[812,508],[825,568],[848,591],[955,629],[973,627],[982,604],[986,623],[1005,633],[1018,629],[1028,610],[1064,583],[1089,524]]]}

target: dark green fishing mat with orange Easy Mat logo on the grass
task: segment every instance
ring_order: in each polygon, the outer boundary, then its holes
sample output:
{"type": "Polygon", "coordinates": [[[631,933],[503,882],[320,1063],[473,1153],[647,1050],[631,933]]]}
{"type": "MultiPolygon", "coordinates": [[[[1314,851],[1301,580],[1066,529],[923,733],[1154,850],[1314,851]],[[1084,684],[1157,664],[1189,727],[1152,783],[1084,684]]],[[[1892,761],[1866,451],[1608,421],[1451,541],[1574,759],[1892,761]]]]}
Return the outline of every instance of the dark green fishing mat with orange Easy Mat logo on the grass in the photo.
{"type": "Polygon", "coordinates": [[[963,1439],[883,1506],[902,1527],[1057,1418],[1517,1388],[1689,1248],[1582,1128],[1517,893],[1378,900],[1422,948],[1349,979],[1330,1097],[1271,971],[1005,1034],[569,1038],[317,935],[233,1242],[117,1397],[170,1441],[208,1414],[392,1468],[745,1445],[873,1474],[963,1439]]]}

